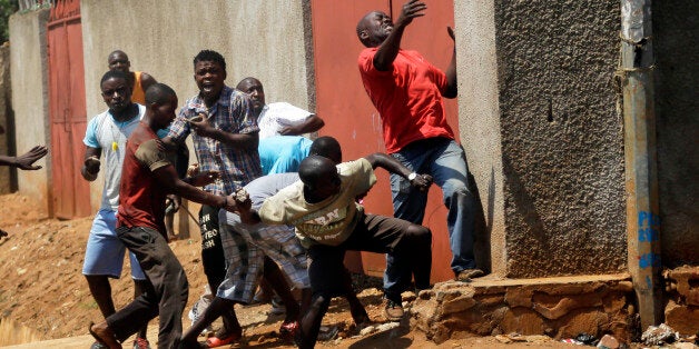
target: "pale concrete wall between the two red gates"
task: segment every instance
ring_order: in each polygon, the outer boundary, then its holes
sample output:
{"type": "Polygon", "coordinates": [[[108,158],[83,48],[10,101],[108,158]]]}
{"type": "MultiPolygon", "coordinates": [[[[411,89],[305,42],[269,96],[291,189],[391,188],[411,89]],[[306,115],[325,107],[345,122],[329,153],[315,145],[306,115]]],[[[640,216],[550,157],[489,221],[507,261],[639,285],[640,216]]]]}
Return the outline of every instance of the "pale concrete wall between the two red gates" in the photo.
{"type": "MultiPolygon", "coordinates": [[[[131,70],[173,87],[180,106],[197,93],[194,57],[211,49],[226,58],[227,84],[257,77],[267,102],[312,109],[307,76],[313,53],[306,53],[309,21],[304,20],[304,7],[294,0],[81,1],[88,118],[106,109],[99,79],[107,71],[107,56],[116,49],[127,52],[131,70]]],[[[96,181],[92,192],[101,186],[96,181]]],[[[93,206],[96,198],[92,195],[93,206]]]]}

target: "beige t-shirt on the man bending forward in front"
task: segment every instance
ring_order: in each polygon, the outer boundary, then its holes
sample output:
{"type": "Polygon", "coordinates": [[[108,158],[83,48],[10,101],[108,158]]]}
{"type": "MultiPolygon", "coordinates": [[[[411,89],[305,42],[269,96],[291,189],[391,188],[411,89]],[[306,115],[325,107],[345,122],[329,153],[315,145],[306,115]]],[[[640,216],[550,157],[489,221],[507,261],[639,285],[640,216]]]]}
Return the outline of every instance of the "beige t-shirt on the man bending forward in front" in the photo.
{"type": "Polygon", "coordinates": [[[376,176],[366,159],[341,163],[337,171],[342,181],[337,195],[308,203],[304,198],[304,185],[298,181],[265,200],[258,211],[259,218],[268,225],[296,227],[296,236],[306,248],[316,243],[342,243],[364,210],[355,198],[376,183],[376,176]]]}

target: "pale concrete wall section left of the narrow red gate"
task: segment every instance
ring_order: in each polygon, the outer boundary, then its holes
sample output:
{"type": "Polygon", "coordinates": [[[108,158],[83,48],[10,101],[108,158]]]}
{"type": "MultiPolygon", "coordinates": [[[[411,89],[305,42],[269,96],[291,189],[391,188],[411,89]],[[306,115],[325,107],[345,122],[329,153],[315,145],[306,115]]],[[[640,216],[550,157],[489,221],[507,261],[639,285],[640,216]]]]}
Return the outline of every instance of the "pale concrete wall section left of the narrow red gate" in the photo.
{"type": "MultiPolygon", "coordinates": [[[[10,17],[10,74],[12,77],[12,108],[17,153],[24,153],[37,144],[50,147],[48,58],[46,24],[49,10],[14,13],[10,17]]],[[[50,202],[51,151],[37,161],[38,171],[19,171],[18,185],[22,195],[50,202]]]]}

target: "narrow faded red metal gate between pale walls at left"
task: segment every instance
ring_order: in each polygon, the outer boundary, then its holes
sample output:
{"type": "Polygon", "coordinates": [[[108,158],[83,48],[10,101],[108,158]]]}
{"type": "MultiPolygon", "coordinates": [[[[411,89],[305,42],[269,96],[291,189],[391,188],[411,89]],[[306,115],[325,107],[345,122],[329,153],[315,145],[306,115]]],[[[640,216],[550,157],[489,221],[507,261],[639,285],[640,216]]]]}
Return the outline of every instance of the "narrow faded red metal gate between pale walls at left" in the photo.
{"type": "Polygon", "coordinates": [[[90,187],[80,176],[87,127],[79,0],[57,0],[48,22],[49,117],[53,216],[90,215],[90,187]]]}

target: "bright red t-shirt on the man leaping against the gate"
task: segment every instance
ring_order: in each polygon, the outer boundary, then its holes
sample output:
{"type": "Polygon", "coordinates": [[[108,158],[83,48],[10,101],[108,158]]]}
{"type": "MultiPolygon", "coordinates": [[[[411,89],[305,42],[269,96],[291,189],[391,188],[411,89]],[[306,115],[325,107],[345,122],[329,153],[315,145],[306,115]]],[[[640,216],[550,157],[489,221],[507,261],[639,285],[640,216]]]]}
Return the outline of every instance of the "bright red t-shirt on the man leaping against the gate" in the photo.
{"type": "Polygon", "coordinates": [[[446,76],[417,51],[400,50],[390,70],[374,68],[377,48],[364,49],[358,64],[364,89],[381,114],[386,152],[433,137],[454,139],[442,93],[446,76]]]}

